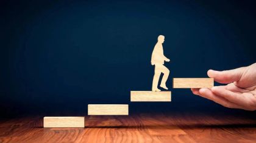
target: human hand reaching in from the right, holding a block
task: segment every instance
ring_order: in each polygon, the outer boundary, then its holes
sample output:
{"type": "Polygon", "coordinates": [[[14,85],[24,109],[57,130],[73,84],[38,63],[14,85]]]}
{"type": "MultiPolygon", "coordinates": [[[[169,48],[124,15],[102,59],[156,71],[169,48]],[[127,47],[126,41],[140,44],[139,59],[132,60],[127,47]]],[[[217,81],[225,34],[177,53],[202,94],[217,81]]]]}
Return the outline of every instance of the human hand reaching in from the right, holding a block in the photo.
{"type": "Polygon", "coordinates": [[[194,95],[215,101],[228,108],[256,110],[256,63],[234,70],[208,70],[216,82],[227,84],[212,88],[191,88],[194,95]]]}

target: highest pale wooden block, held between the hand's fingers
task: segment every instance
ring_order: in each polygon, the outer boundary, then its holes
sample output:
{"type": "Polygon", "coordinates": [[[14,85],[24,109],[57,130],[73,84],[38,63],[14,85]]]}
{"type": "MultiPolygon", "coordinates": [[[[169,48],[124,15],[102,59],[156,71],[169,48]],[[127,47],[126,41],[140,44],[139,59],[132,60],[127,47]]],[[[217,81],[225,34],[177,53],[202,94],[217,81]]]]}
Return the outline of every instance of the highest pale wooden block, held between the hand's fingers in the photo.
{"type": "Polygon", "coordinates": [[[213,78],[173,78],[173,88],[212,88],[213,78]]]}

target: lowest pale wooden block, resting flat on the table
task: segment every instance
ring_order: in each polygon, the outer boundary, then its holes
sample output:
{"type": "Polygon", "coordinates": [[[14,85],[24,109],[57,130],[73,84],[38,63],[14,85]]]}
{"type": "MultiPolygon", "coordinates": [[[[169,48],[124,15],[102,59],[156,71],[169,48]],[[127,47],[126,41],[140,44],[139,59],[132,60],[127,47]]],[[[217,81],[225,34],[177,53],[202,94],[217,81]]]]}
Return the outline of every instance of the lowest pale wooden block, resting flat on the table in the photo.
{"type": "Polygon", "coordinates": [[[44,117],[44,128],[84,128],[84,117],[44,117]]]}

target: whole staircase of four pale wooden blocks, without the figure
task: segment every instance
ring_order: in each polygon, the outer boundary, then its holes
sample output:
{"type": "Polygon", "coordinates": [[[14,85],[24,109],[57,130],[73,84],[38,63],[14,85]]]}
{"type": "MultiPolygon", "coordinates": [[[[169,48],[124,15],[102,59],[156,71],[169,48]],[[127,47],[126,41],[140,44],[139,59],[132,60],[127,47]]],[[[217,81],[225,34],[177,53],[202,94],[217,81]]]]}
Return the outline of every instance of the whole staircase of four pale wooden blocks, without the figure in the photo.
{"type": "MultiPolygon", "coordinates": [[[[212,88],[213,78],[174,78],[173,88],[212,88]]],[[[171,91],[130,91],[130,102],[171,102],[171,91]]],[[[88,115],[129,115],[128,104],[88,104],[88,115]]],[[[85,127],[84,117],[44,117],[44,128],[85,127]]]]}

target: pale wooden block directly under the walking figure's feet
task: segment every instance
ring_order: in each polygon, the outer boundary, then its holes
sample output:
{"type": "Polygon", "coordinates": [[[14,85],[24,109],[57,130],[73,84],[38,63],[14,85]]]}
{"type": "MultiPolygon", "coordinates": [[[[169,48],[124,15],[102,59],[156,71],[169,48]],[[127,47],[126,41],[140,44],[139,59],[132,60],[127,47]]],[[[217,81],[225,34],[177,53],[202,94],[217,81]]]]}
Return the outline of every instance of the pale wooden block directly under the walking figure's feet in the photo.
{"type": "Polygon", "coordinates": [[[131,102],[171,102],[171,91],[130,91],[131,102]]]}

